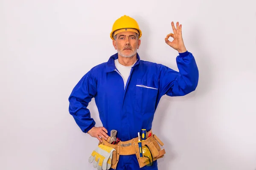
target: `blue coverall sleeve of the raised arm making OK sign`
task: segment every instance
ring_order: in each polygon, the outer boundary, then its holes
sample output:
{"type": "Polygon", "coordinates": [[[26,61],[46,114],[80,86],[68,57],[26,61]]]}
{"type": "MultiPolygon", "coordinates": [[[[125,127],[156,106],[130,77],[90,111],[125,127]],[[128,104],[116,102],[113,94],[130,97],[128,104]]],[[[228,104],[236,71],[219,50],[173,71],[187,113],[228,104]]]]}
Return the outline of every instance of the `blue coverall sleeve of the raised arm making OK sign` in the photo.
{"type": "Polygon", "coordinates": [[[160,68],[160,95],[184,96],[198,85],[198,67],[195,58],[189,51],[179,53],[176,58],[179,72],[164,65],[160,68]]]}

